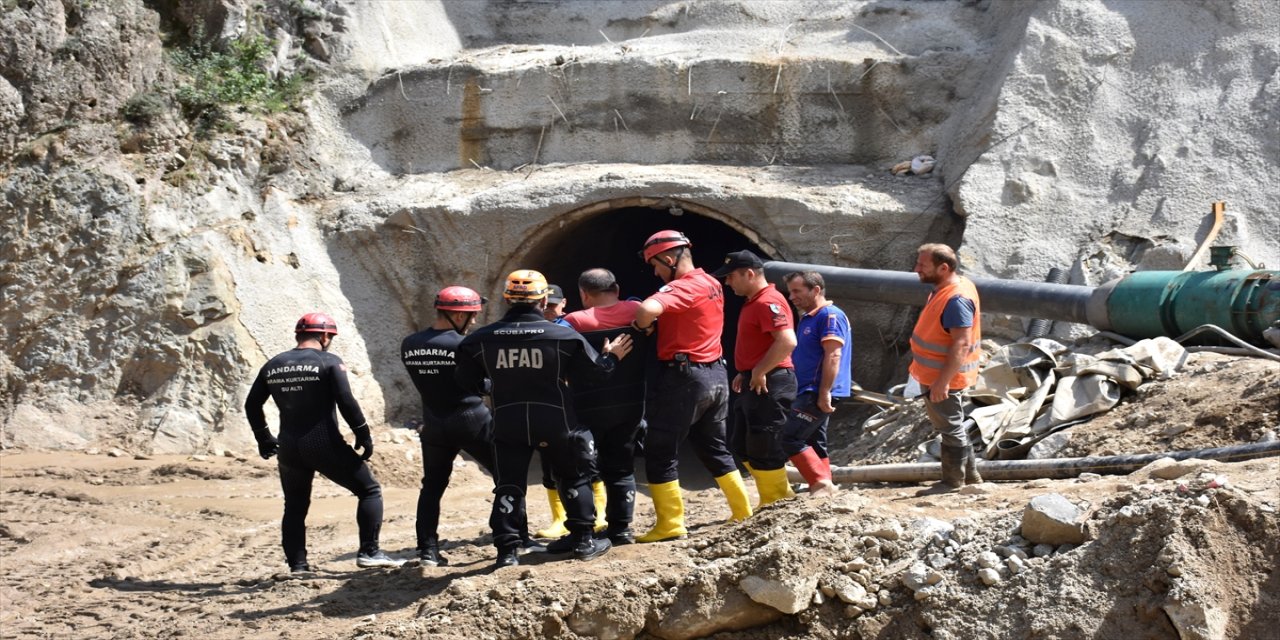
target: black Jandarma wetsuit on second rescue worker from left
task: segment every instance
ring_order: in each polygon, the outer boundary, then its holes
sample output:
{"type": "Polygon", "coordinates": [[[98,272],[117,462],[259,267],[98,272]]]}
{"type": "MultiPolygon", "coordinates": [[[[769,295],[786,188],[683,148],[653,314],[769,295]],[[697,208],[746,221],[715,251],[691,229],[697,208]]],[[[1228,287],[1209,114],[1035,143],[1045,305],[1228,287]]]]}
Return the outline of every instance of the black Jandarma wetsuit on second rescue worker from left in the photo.
{"type": "Polygon", "coordinates": [[[401,343],[401,360],[422,397],[422,488],[417,494],[417,548],[438,540],[440,498],[449,486],[453,460],[467,452],[493,474],[493,416],[476,393],[454,380],[462,335],[453,329],[426,329],[401,343]]]}

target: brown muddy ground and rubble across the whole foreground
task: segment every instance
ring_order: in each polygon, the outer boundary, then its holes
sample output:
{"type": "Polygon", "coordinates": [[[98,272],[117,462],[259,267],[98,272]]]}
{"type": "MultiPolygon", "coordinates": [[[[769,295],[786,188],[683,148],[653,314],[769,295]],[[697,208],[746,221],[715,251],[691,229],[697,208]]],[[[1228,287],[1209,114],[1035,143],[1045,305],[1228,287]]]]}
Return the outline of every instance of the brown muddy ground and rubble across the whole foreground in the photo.
{"type": "MultiPolygon", "coordinates": [[[[859,424],[833,430],[837,463],[913,461],[928,431],[860,434],[859,424]]],[[[1073,428],[1069,453],[1263,442],[1277,424],[1280,365],[1202,353],[1073,428]]],[[[403,429],[380,438],[383,545],[411,558],[417,443],[403,429]]],[[[320,571],[292,579],[271,463],[109,453],[0,453],[0,636],[1262,639],[1280,628],[1274,457],[1190,463],[1171,480],[1146,468],[934,497],[852,485],[745,524],[723,524],[719,493],[695,477],[687,540],[590,562],[526,556],[498,571],[489,479],[474,463],[445,494],[448,567],[356,568],[355,499],[319,480],[308,538],[320,571]],[[1055,493],[1080,511],[1083,544],[1019,535],[1029,500],[1055,493]],[[987,585],[978,570],[991,564],[998,581],[987,585]]],[[[643,530],[653,508],[637,503],[643,530]]],[[[538,486],[530,518],[547,520],[538,486]]]]}

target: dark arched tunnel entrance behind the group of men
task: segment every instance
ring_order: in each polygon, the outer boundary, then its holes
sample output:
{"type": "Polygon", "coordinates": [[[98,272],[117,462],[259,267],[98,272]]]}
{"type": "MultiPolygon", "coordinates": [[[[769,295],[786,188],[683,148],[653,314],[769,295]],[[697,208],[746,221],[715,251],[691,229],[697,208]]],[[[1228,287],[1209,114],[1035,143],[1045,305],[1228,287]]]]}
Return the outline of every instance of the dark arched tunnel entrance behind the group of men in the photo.
{"type": "MultiPolygon", "coordinates": [[[[687,209],[690,206],[696,205],[655,200],[650,206],[621,206],[588,214],[545,233],[521,259],[518,266],[536,269],[548,282],[559,284],[568,301],[566,311],[577,311],[582,308],[577,296],[577,276],[591,268],[603,266],[613,271],[623,298],[645,298],[658,291],[663,284],[662,279],[653,274],[653,268],[643,262],[637,252],[649,236],[663,229],[684,232],[694,243],[694,265],[707,273],[719,269],[724,253],[730,251],[751,250],[764,260],[783,257],[774,255],[776,250],[768,246],[762,247],[767,243],[758,243],[742,230],[713,218],[714,212],[699,214],[687,209]]],[[[742,302],[731,291],[726,292],[722,344],[730,371],[733,371],[733,340],[742,302]]]]}

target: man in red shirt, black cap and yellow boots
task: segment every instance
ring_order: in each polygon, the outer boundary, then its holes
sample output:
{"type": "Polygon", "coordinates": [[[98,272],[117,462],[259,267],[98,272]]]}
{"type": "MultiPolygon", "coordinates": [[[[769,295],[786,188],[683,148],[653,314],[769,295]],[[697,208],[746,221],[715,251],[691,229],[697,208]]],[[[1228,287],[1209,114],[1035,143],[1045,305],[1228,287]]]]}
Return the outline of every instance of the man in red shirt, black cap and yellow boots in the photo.
{"type": "Polygon", "coordinates": [[[791,349],[796,332],[787,298],[764,279],[764,261],[742,250],[724,256],[716,274],[724,285],[746,298],[737,316],[733,346],[735,422],[732,449],[755,477],[760,506],[795,495],[787,483],[787,456],[782,452],[782,429],[791,402],[796,399],[791,349]]]}

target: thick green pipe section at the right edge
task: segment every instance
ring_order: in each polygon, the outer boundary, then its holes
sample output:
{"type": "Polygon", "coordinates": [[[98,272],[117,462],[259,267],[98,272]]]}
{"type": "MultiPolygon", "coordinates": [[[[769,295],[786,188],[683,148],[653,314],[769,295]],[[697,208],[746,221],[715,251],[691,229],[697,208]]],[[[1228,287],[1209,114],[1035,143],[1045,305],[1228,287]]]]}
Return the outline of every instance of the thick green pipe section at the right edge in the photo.
{"type": "Polygon", "coordinates": [[[1101,291],[1110,329],[1134,338],[1213,324],[1262,344],[1262,332],[1280,320],[1280,271],[1138,271],[1101,291]]]}

